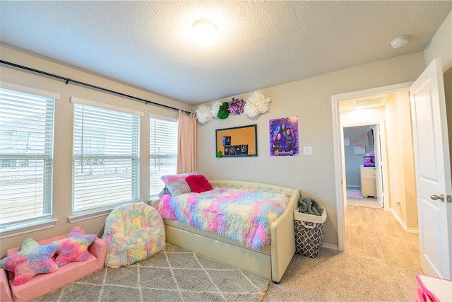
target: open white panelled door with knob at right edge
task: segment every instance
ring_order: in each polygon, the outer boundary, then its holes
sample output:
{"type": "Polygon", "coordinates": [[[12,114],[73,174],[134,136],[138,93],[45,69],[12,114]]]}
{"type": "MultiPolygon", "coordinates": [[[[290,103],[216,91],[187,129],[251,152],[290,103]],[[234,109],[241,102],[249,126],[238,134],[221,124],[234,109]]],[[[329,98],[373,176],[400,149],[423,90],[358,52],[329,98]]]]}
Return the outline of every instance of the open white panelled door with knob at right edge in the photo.
{"type": "Polygon", "coordinates": [[[452,183],[440,59],[434,59],[412,84],[410,99],[421,268],[425,274],[451,279],[448,219],[452,219],[452,204],[447,199],[451,199],[452,183]]]}

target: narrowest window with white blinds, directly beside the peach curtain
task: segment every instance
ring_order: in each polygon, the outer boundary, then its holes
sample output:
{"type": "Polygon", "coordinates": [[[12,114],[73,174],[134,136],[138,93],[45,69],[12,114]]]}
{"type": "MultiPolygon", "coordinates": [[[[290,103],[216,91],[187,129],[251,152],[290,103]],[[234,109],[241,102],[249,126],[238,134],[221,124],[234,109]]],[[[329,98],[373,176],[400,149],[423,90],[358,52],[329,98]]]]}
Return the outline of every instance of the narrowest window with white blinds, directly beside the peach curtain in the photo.
{"type": "Polygon", "coordinates": [[[177,172],[177,120],[149,117],[150,197],[162,191],[162,175],[177,172]]]}

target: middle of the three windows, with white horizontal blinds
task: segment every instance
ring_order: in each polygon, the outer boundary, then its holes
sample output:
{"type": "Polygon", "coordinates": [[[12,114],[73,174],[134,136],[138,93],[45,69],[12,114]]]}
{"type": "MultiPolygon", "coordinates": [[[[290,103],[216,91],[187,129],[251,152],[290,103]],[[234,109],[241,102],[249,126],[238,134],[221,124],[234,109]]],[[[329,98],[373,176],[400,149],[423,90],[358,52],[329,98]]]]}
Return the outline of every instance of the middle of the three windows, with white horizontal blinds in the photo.
{"type": "Polygon", "coordinates": [[[138,201],[140,116],[71,102],[73,214],[138,201]]]}

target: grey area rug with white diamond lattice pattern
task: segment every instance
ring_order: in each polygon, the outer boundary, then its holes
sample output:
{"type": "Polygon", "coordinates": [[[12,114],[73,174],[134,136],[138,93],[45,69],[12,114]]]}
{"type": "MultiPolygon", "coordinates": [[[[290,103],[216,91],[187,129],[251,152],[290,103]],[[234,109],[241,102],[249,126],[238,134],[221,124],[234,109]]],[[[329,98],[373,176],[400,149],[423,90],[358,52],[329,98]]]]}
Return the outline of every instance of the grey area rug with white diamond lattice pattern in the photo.
{"type": "Polygon", "coordinates": [[[262,301],[269,281],[166,244],[146,260],[104,267],[34,301],[262,301]]]}

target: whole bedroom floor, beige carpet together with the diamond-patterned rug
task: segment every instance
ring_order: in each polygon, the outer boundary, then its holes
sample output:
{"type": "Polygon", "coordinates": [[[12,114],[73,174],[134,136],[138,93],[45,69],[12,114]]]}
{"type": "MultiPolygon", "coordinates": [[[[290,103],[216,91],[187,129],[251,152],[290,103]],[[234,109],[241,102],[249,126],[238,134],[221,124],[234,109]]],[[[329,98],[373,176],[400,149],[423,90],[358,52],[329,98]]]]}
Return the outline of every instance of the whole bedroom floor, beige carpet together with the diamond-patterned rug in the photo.
{"type": "Polygon", "coordinates": [[[415,301],[419,267],[322,248],[295,255],[280,284],[167,245],[148,260],[101,269],[36,301],[415,301]]]}

